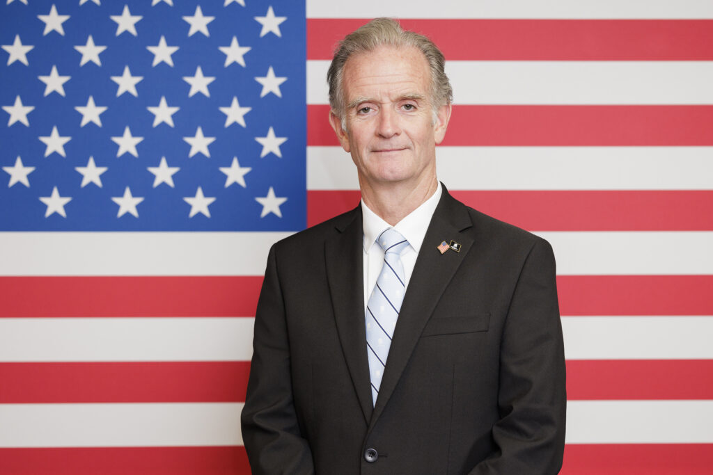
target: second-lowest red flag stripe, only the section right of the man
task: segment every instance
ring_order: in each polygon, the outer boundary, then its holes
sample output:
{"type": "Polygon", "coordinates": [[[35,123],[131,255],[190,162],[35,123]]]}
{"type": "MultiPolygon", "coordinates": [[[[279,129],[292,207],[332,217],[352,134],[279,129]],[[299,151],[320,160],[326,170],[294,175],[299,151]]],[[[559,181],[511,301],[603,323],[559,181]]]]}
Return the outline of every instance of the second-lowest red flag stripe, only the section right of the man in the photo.
{"type": "Polygon", "coordinates": [[[713,360],[568,360],[568,400],[711,400],[713,360]]]}

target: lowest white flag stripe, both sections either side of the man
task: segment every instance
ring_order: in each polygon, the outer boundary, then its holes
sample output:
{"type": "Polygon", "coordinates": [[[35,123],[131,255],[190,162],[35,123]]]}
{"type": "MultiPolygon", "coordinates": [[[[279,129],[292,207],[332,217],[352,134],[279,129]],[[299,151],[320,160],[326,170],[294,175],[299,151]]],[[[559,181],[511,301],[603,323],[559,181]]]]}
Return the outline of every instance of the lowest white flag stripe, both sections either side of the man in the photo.
{"type": "MultiPolygon", "coordinates": [[[[0,447],[240,445],[242,406],[0,404],[0,447]]],[[[713,401],[568,401],[566,434],[568,444],[711,443],[713,401]]]]}

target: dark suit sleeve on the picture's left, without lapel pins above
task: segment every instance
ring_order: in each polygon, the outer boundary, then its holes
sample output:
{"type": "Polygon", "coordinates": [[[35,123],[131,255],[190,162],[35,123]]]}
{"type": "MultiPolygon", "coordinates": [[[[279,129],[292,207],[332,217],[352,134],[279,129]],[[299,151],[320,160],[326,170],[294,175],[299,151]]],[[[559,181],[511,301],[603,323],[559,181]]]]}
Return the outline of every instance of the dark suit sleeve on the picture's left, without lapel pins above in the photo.
{"type": "Polygon", "coordinates": [[[255,313],[252,363],[242,409],[242,439],[252,474],[313,474],[292,396],[289,338],[275,246],[255,313]]]}

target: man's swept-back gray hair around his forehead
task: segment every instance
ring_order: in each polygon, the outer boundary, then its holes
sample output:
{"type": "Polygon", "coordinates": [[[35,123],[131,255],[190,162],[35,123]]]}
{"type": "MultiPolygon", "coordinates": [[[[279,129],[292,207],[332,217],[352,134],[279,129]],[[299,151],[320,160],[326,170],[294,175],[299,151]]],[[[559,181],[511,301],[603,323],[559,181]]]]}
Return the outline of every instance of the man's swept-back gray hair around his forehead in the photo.
{"type": "Polygon", "coordinates": [[[332,64],[327,71],[329,83],[329,105],[342,119],[342,128],[346,122],[344,115],[344,98],[342,97],[342,76],[344,65],[350,56],[374,51],[379,46],[395,46],[396,48],[413,47],[424,53],[431,71],[431,101],[436,110],[442,105],[453,102],[453,89],[443,67],[446,59],[438,46],[426,36],[401,28],[399,22],[389,18],[377,18],[349,33],[339,42],[334,52],[332,64]]]}

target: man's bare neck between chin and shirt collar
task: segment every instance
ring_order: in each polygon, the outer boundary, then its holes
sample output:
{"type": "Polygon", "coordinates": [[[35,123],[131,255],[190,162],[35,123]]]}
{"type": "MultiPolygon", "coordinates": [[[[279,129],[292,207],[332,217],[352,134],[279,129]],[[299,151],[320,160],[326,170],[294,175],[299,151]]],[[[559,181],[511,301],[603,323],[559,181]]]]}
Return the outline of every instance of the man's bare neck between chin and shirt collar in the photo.
{"type": "Polygon", "coordinates": [[[438,188],[438,180],[435,176],[429,177],[416,184],[416,187],[394,183],[379,186],[379,184],[369,184],[361,178],[360,174],[359,188],[361,199],[366,206],[394,226],[433,196],[438,188]]]}

